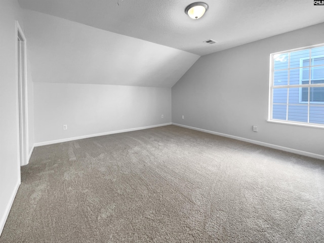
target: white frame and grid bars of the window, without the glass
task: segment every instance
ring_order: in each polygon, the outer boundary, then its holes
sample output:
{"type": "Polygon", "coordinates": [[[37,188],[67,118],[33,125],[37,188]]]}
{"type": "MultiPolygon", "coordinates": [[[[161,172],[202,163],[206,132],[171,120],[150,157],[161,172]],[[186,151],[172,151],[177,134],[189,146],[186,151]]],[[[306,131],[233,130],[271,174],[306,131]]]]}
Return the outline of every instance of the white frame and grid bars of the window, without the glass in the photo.
{"type": "MultiPolygon", "coordinates": [[[[288,125],[297,125],[297,126],[306,126],[306,127],[315,127],[315,128],[324,128],[324,124],[317,124],[317,123],[309,123],[309,107],[310,104],[318,104],[320,106],[324,106],[322,102],[302,102],[304,105],[307,105],[308,107],[308,114],[307,114],[307,123],[306,122],[301,122],[301,121],[295,121],[295,120],[288,120],[288,112],[289,112],[289,88],[312,88],[312,87],[324,87],[324,84],[299,84],[299,85],[290,85],[290,71],[291,69],[295,68],[290,68],[288,66],[288,84],[287,85],[274,85],[274,56],[275,55],[280,55],[280,54],[289,54],[289,60],[288,63],[290,63],[290,53],[296,52],[296,51],[302,51],[306,49],[312,49],[312,48],[317,48],[317,47],[323,47],[324,44],[319,44],[319,45],[314,45],[314,46],[308,46],[308,47],[303,47],[303,48],[297,48],[297,49],[292,49],[292,50],[286,50],[282,52],[276,52],[270,54],[270,73],[269,73],[269,107],[268,107],[268,119],[267,121],[269,123],[279,123],[279,124],[288,124],[288,125]],[[283,119],[274,119],[273,118],[273,90],[274,89],[279,89],[279,88],[287,88],[288,89],[288,94],[287,94],[287,113],[286,113],[286,120],[283,119]]],[[[322,56],[322,55],[319,55],[322,56]]],[[[318,57],[318,56],[315,56],[318,57]]],[[[310,57],[312,58],[312,57],[310,57]]],[[[305,58],[306,59],[306,58],[305,58]]],[[[309,58],[308,58],[309,59],[309,58]]],[[[300,68],[300,67],[299,67],[300,68]]],[[[286,68],[285,68],[286,69],[286,68]]],[[[282,69],[282,70],[285,70],[282,69]]],[[[302,68],[301,68],[302,70],[302,68]]],[[[277,71],[277,70],[276,70],[277,71]]],[[[309,95],[309,93],[308,93],[309,95]]]]}

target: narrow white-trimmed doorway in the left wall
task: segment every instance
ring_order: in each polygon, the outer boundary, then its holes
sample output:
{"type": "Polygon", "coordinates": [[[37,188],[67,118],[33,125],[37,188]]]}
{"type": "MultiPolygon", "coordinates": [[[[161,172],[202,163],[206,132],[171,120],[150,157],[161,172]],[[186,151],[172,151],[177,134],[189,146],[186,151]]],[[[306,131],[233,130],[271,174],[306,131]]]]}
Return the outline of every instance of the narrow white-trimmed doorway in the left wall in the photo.
{"type": "Polygon", "coordinates": [[[26,38],[17,22],[17,88],[20,166],[28,164],[26,38]]]}

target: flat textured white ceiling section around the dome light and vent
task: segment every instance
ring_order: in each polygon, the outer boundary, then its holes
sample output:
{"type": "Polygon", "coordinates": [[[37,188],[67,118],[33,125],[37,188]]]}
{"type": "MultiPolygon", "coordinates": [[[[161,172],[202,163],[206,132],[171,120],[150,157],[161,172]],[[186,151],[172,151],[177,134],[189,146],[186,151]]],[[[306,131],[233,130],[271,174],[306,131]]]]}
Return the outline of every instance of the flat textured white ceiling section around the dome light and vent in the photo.
{"type": "Polygon", "coordinates": [[[143,39],[200,56],[324,22],[311,0],[206,0],[198,20],[184,9],[192,0],[19,0],[25,9],[143,39]],[[207,39],[218,43],[203,43],[207,39]]]}

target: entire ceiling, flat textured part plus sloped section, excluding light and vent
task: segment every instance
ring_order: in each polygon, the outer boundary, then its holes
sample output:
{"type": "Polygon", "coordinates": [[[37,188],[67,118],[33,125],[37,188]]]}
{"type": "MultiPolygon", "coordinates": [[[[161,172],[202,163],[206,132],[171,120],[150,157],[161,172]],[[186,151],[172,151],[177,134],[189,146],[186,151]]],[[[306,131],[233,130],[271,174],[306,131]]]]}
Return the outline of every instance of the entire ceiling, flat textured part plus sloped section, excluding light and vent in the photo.
{"type": "Polygon", "coordinates": [[[310,0],[205,0],[198,20],[192,2],[18,0],[33,81],[171,88],[200,56],[324,22],[310,0]]]}

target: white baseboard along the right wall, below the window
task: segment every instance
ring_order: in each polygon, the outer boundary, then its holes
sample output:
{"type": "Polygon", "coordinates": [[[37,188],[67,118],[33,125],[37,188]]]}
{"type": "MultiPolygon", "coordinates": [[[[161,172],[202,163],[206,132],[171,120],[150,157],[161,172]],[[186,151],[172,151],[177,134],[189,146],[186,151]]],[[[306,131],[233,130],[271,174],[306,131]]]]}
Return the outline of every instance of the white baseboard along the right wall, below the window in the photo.
{"type": "Polygon", "coordinates": [[[241,138],[241,137],[228,135],[228,134],[224,134],[224,133],[217,133],[214,131],[185,126],[185,125],[181,125],[181,124],[177,124],[177,123],[172,123],[172,125],[324,160],[324,155],[320,155],[320,154],[316,154],[316,153],[310,153],[310,152],[306,152],[306,151],[302,151],[302,150],[298,150],[298,149],[294,149],[294,148],[287,148],[287,147],[283,147],[283,146],[279,146],[279,145],[275,145],[275,144],[271,144],[271,143],[260,142],[260,141],[256,141],[256,140],[252,140],[252,139],[248,139],[248,138],[241,138]]]}

